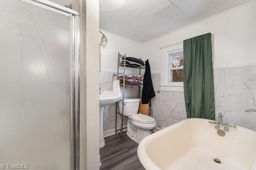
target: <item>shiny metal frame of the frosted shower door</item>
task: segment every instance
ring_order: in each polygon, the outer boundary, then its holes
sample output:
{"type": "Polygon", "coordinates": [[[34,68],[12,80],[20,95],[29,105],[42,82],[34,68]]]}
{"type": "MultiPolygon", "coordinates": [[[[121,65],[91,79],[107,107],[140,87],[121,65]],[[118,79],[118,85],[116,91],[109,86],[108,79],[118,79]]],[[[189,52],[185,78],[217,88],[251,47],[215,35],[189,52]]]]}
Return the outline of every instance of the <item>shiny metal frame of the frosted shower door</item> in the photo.
{"type": "Polygon", "coordinates": [[[70,17],[70,80],[71,93],[71,168],[79,170],[80,161],[80,13],[48,0],[20,0],[70,17]]]}

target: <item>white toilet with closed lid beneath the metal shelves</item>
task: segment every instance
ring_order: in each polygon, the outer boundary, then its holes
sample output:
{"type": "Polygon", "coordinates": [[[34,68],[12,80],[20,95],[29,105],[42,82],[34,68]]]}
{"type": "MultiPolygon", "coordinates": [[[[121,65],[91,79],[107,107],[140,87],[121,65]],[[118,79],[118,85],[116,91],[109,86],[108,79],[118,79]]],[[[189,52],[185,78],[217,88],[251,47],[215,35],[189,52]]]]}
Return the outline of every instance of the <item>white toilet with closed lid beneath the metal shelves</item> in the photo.
{"type": "MultiPolygon", "coordinates": [[[[139,109],[139,99],[124,99],[124,116],[128,117],[126,134],[137,143],[151,134],[151,130],[156,127],[154,118],[137,114],[139,109]]],[[[122,101],[119,102],[120,113],[122,113],[122,101]]]]}

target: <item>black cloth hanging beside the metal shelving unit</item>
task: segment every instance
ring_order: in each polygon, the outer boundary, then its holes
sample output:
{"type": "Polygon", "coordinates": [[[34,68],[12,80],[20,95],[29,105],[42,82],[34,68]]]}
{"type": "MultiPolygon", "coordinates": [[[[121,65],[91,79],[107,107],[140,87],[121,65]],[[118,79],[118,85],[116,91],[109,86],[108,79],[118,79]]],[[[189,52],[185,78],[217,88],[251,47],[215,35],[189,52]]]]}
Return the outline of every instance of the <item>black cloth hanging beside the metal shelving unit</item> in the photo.
{"type": "Polygon", "coordinates": [[[151,79],[151,72],[150,72],[150,65],[148,63],[148,59],[146,61],[146,69],[145,69],[145,74],[144,74],[144,79],[143,79],[143,89],[142,89],[142,104],[148,104],[150,99],[152,97],[155,97],[155,91],[153,88],[153,83],[151,79]]]}

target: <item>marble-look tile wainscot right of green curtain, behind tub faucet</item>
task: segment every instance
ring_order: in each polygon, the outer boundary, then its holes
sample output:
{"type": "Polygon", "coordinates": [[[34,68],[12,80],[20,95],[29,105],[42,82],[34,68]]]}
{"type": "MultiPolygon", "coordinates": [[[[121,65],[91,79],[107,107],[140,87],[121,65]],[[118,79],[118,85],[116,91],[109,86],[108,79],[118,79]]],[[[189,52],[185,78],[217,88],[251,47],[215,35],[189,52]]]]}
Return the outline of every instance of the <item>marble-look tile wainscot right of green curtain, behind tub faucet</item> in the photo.
{"type": "MultiPolygon", "coordinates": [[[[224,122],[256,131],[256,66],[214,70],[215,111],[224,122]]],[[[217,114],[216,114],[217,117],[217,114]]]]}

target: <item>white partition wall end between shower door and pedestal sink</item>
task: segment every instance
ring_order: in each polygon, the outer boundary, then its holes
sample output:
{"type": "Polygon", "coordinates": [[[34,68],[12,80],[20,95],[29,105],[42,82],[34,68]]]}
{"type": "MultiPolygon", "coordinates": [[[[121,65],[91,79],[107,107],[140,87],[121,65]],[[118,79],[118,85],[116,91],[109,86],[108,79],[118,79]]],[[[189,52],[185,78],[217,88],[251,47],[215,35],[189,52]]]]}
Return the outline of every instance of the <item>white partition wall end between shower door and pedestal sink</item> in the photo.
{"type": "Polygon", "coordinates": [[[80,0],[80,168],[99,169],[99,0],[80,0]]]}

